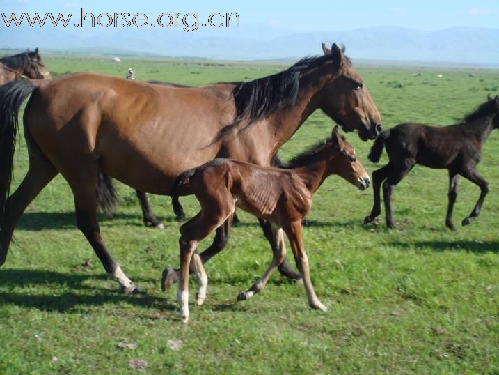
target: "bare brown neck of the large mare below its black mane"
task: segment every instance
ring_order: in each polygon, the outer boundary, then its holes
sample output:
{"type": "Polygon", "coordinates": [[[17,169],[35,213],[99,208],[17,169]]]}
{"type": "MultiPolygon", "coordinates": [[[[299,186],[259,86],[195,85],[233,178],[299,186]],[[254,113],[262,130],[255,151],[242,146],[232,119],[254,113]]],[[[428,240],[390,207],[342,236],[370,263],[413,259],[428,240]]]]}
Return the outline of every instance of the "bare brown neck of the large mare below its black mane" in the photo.
{"type": "Polygon", "coordinates": [[[267,118],[269,134],[274,135],[274,153],[294,135],[313,112],[319,109],[317,93],[324,83],[317,84],[317,79],[311,79],[310,75],[302,75],[294,105],[267,118]]]}

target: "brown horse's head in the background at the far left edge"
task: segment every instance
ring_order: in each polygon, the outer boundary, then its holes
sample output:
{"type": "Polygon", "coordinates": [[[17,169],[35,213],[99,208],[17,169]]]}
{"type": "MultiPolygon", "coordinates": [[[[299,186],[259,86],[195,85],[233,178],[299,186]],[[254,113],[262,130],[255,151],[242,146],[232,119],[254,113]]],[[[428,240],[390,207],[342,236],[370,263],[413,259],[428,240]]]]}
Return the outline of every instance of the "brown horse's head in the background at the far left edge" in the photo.
{"type": "Polygon", "coordinates": [[[38,48],[31,52],[26,51],[0,59],[0,85],[20,79],[22,76],[33,79],[52,79],[38,54],[38,48]]]}

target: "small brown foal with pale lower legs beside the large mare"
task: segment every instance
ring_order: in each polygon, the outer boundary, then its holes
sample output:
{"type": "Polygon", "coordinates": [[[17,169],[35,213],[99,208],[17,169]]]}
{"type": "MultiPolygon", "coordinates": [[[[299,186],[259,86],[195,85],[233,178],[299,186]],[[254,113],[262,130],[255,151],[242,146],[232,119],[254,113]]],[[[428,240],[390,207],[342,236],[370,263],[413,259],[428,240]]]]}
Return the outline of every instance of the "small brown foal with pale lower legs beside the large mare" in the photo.
{"type": "MultiPolygon", "coordinates": [[[[196,295],[198,305],[206,298],[207,276],[203,262],[194,252],[198,243],[206,238],[228,217],[236,206],[271,223],[274,236],[274,256],[270,266],[260,280],[250,289],[239,294],[237,300],[247,300],[264,289],[271,273],[283,261],[286,254],[283,232],[290,240],[294,260],[307,293],[308,304],[314,309],[327,311],[315,295],[308,258],[301,240],[301,220],[312,206],[312,194],[324,180],[338,174],[349,183],[365,190],[370,184],[369,176],[357,161],[354,148],[333,130],[331,139],[310,148],[290,162],[289,169],[259,167],[246,162],[217,158],[200,167],[184,171],[173,183],[171,197],[175,213],[181,209],[178,195],[180,190],[196,195],[201,211],[180,227],[180,281],[177,300],[180,316],[184,322],[189,319],[189,264],[198,277],[199,289],[196,295]]],[[[168,269],[163,273],[163,290],[170,286],[166,279],[168,269]]]]}

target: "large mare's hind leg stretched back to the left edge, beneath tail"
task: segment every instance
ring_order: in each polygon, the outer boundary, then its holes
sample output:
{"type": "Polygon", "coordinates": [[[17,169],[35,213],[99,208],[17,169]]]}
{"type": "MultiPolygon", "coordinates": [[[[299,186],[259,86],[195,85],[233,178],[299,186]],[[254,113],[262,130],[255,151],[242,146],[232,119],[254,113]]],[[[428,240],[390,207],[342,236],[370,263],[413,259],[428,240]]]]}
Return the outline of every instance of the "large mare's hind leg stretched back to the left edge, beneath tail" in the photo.
{"type": "Polygon", "coordinates": [[[29,146],[29,170],[21,185],[14,194],[8,197],[5,213],[0,230],[0,266],[5,263],[10,240],[14,233],[15,225],[26,207],[35,199],[43,188],[52,181],[58,171],[43,155],[38,146],[31,146],[29,138],[26,137],[29,146]]]}

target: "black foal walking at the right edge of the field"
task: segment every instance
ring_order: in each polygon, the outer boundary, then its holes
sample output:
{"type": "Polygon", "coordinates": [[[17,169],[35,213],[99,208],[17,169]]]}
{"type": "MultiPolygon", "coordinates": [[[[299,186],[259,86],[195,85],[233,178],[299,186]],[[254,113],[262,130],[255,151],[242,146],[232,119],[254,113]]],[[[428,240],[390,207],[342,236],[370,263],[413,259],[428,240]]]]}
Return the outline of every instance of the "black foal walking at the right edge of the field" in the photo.
{"type": "Polygon", "coordinates": [[[374,204],[364,223],[372,222],[380,213],[379,190],[383,183],[386,225],[393,228],[391,197],[395,185],[414,167],[449,170],[449,206],[445,225],[455,230],[452,223],[452,208],[457,197],[459,175],[480,187],[480,198],[462,224],[468,225],[478,216],[489,192],[488,183],[475,169],[482,158],[482,146],[493,129],[499,128],[499,97],[488,98],[475,112],[468,114],[457,125],[436,127],[419,123],[401,123],[386,130],[374,142],[368,156],[372,162],[379,162],[383,146],[388,154],[388,164],[372,173],[374,204]]]}

